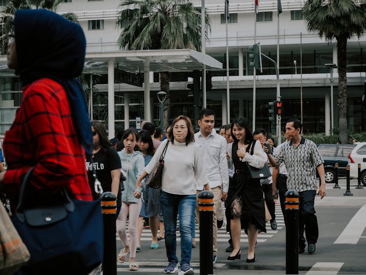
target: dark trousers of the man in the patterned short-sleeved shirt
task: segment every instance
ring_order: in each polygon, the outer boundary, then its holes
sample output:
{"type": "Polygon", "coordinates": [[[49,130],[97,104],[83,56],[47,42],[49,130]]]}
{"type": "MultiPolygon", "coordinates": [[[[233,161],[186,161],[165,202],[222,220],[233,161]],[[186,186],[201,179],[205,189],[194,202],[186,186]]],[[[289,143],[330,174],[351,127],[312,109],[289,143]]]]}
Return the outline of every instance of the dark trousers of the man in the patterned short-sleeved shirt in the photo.
{"type": "Polygon", "coordinates": [[[305,248],[304,230],[308,244],[315,244],[319,236],[314,208],[316,190],[306,190],[299,194],[299,248],[305,248]]]}

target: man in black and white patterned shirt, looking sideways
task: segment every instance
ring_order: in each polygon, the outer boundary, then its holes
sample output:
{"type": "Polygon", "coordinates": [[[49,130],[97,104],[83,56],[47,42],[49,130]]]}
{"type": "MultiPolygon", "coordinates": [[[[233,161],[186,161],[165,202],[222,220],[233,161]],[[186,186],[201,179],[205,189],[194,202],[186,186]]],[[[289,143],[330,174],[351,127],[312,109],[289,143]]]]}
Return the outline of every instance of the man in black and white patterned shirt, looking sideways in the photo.
{"type": "MultiPolygon", "coordinates": [[[[285,143],[274,157],[270,154],[268,159],[274,170],[285,163],[288,172],[287,189],[299,192],[299,254],[305,252],[305,237],[307,252],[313,254],[316,250],[315,243],[318,240],[318,220],[315,215],[314,201],[317,188],[316,172],[318,170],[321,186],[319,194],[325,196],[325,177],[323,158],[315,143],[301,136],[303,125],[298,119],[290,119],[286,123],[286,135],[289,142],[285,143]]],[[[264,151],[267,152],[266,149],[264,151]]],[[[278,173],[278,171],[274,172],[278,173]]],[[[273,179],[273,195],[277,197],[277,179],[273,179]]]]}

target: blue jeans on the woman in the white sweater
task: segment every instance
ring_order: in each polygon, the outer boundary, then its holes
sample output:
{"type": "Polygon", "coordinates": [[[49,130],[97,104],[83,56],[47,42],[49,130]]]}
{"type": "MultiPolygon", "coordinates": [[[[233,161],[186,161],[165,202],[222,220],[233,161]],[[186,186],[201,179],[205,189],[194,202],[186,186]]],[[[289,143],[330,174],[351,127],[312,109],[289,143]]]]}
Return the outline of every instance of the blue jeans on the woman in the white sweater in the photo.
{"type": "Polygon", "coordinates": [[[196,209],[196,194],[176,195],[164,192],[160,194],[160,204],[163,210],[165,248],[168,261],[178,263],[177,258],[177,214],[179,214],[179,231],[181,233],[180,265],[189,264],[192,254],[192,236],[195,230],[194,216],[196,209]]]}

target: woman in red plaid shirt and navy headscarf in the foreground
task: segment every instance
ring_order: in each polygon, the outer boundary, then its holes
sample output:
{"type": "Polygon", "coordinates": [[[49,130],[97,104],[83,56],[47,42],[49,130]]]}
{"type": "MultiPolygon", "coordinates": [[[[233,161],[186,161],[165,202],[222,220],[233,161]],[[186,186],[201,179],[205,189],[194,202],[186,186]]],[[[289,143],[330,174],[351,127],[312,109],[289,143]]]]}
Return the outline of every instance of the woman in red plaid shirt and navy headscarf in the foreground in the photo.
{"type": "Polygon", "coordinates": [[[0,187],[13,208],[23,176],[33,166],[28,203],[44,202],[63,187],[74,198],[92,200],[85,169],[91,126],[82,87],[74,79],[84,57],[85,37],[78,24],[47,10],[16,12],[7,58],[20,76],[23,95],[5,133],[8,169],[0,173],[0,187]]]}

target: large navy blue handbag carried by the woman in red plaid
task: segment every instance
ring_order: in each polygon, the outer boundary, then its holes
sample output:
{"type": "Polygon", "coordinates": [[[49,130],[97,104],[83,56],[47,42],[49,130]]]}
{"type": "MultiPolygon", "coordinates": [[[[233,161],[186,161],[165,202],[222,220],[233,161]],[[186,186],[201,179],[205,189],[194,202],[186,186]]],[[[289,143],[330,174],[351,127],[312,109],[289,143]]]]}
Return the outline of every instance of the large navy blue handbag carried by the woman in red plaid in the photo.
{"type": "Polygon", "coordinates": [[[71,200],[24,209],[25,174],[19,204],[12,221],[30,252],[30,260],[17,274],[87,275],[103,259],[103,224],[100,200],[71,200]]]}

